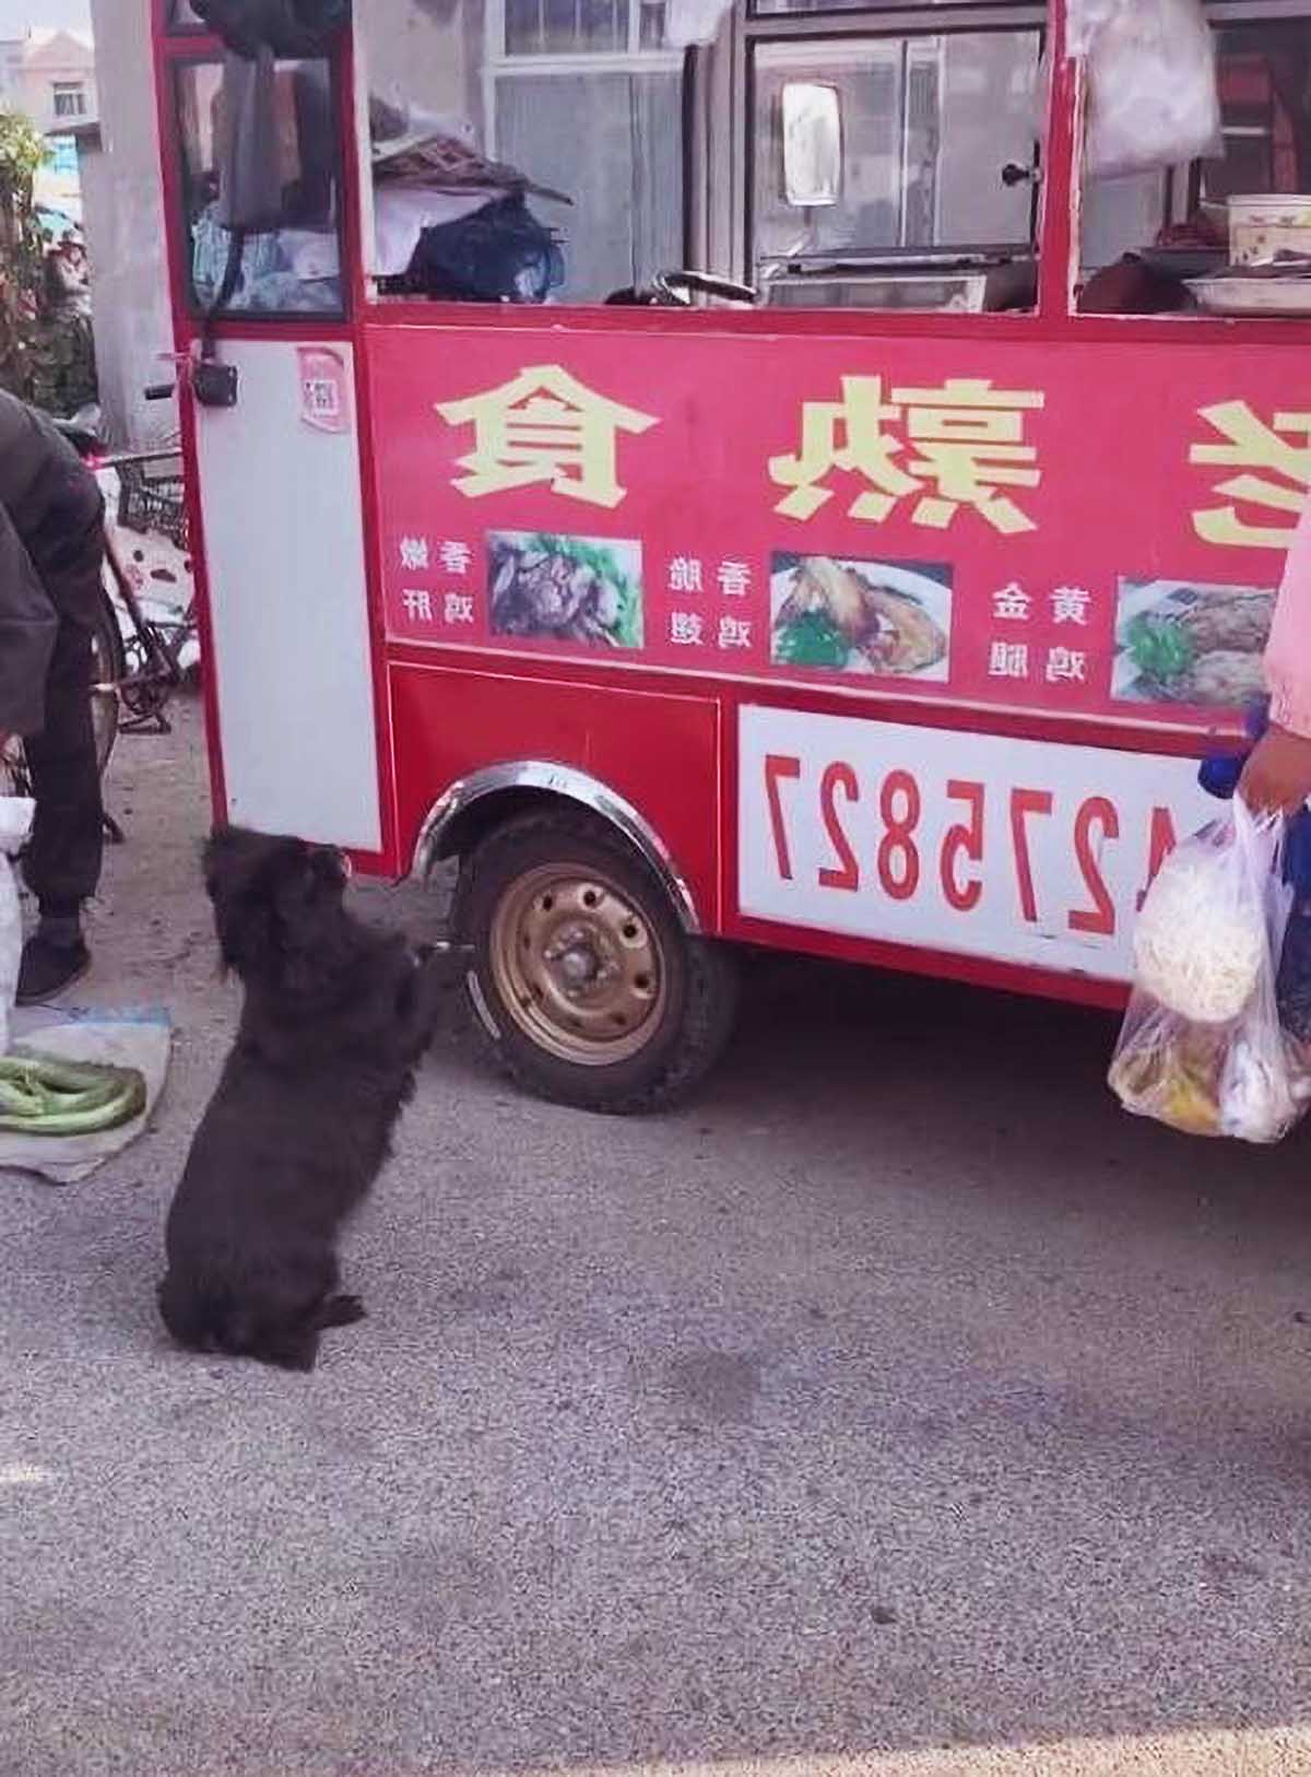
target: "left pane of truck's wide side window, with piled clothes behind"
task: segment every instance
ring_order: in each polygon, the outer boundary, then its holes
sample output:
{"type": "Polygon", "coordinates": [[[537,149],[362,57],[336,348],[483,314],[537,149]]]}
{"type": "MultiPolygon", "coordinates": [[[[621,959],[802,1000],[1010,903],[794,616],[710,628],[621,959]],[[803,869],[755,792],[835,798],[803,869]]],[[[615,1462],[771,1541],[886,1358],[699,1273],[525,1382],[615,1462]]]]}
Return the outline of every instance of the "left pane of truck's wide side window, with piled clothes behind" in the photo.
{"type": "Polygon", "coordinates": [[[357,0],[378,295],[600,302],[680,265],[682,53],[664,12],[357,0]]]}

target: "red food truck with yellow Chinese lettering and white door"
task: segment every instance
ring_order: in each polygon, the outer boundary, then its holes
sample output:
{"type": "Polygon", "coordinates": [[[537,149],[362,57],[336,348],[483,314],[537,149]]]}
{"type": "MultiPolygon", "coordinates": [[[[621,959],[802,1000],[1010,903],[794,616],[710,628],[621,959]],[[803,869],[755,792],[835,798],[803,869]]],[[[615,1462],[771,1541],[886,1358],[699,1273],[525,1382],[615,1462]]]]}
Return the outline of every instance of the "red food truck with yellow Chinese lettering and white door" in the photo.
{"type": "Polygon", "coordinates": [[[1059,5],[281,11],[155,0],[217,812],[458,858],[572,1104],[741,945],[1119,1002],[1311,480],[1226,235],[1311,222],[1311,5],[1210,4],[1215,140],[1114,179],[1059,5]]]}

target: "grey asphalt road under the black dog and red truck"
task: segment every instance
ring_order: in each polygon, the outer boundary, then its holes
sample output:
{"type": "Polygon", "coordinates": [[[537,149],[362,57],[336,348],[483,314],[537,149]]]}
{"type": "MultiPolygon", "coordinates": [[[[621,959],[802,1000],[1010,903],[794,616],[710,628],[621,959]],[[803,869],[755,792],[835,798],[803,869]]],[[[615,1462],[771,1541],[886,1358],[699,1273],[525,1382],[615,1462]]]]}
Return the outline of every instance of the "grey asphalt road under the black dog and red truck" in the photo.
{"type": "Polygon", "coordinates": [[[119,1162],[0,1180],[4,1777],[1311,1772],[1311,1134],[1188,1143],[1103,1016],[789,960],[615,1123],[451,992],[369,1319],[311,1379],[188,1358],[194,714],[114,801],[82,999],[178,1041],[119,1162]]]}

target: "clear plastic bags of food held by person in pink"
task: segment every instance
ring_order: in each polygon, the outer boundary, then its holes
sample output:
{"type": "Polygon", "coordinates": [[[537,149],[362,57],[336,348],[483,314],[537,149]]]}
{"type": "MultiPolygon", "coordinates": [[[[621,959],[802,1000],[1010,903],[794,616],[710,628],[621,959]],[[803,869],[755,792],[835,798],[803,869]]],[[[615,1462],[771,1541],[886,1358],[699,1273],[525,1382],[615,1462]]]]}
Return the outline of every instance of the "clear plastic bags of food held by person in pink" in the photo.
{"type": "Polygon", "coordinates": [[[1133,931],[1133,993],[1110,1063],[1126,1111],[1188,1136],[1279,1141],[1311,1098],[1281,1029],[1275,967],[1290,890],[1283,819],[1235,798],[1162,864],[1133,931]]]}

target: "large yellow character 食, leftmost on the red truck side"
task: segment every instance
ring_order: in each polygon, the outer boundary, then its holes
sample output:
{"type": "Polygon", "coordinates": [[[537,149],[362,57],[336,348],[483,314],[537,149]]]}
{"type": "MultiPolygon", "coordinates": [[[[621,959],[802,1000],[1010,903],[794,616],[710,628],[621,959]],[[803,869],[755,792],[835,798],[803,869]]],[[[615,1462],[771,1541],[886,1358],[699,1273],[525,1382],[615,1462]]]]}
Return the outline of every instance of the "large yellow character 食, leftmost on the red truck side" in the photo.
{"type": "Polygon", "coordinates": [[[616,506],[618,435],[647,432],[650,414],[597,394],[560,364],[531,364],[510,382],[462,402],[441,402],[449,426],[473,426],[474,448],[460,457],[467,474],[455,487],[467,498],[505,494],[545,482],[565,499],[616,506]]]}

